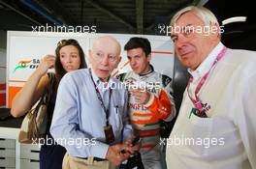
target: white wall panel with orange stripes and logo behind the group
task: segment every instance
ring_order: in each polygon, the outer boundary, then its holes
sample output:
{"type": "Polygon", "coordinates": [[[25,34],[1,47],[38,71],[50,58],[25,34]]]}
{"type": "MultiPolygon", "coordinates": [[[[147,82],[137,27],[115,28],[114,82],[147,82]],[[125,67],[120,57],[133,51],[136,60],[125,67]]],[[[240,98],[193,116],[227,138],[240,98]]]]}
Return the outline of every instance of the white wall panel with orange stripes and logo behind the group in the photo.
{"type": "Polygon", "coordinates": [[[47,54],[54,54],[57,42],[63,39],[75,39],[85,53],[88,64],[88,49],[93,39],[98,36],[111,35],[121,43],[122,61],[113,75],[131,70],[123,46],[132,37],[144,37],[151,42],[152,62],[155,70],[173,77],[174,46],[169,37],[144,36],[128,34],[80,34],[80,33],[37,33],[37,32],[8,32],[7,70],[8,70],[8,107],[16,92],[24,85],[31,73],[38,67],[40,59],[47,54]]]}

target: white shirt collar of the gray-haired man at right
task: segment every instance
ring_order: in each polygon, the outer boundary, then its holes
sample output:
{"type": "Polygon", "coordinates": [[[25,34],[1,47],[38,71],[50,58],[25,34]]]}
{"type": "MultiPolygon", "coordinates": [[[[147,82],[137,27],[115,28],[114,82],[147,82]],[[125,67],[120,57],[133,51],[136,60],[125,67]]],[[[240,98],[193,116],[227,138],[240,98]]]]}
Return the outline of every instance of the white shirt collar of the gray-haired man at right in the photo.
{"type": "Polygon", "coordinates": [[[212,50],[211,52],[208,54],[208,57],[200,64],[200,66],[196,69],[196,70],[191,70],[188,69],[188,72],[195,78],[195,79],[199,79],[202,76],[204,76],[209,68],[211,67],[212,63],[214,62],[214,60],[216,59],[217,55],[219,54],[219,52],[221,51],[221,49],[223,48],[223,43],[219,42],[212,50]]]}

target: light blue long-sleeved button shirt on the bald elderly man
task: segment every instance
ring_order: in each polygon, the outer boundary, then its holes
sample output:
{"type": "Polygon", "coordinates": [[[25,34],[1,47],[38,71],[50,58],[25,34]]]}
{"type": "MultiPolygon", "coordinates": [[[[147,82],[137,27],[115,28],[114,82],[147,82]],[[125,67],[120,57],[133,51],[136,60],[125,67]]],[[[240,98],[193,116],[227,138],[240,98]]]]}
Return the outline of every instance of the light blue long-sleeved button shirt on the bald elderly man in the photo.
{"type": "MultiPolygon", "coordinates": [[[[132,127],[128,124],[125,87],[112,77],[105,87],[93,70],[92,76],[106,107],[109,107],[112,87],[110,124],[114,143],[120,143],[121,139],[126,140],[132,134],[132,127]]],[[[50,127],[54,140],[65,147],[69,155],[106,158],[109,145],[106,144],[105,126],[106,113],[97,98],[89,70],[76,70],[64,75],[58,87],[50,127]]]]}

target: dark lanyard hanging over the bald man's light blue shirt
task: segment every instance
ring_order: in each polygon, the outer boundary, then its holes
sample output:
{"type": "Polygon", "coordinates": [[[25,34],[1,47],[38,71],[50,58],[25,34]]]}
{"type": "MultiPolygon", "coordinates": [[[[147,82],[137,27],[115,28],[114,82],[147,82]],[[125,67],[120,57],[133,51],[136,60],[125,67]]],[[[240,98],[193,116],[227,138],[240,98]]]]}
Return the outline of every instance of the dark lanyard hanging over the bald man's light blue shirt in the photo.
{"type": "Polygon", "coordinates": [[[93,80],[93,77],[92,77],[92,74],[91,74],[91,70],[89,70],[89,72],[90,72],[91,80],[92,80],[92,82],[93,82],[94,89],[95,89],[96,94],[97,94],[97,98],[99,99],[99,101],[100,101],[100,103],[101,103],[101,106],[102,106],[102,108],[103,108],[103,110],[104,110],[104,112],[105,112],[105,114],[106,114],[106,120],[107,120],[107,121],[106,121],[106,126],[108,127],[108,126],[110,125],[110,123],[109,123],[109,117],[110,117],[110,107],[111,107],[111,98],[112,98],[112,88],[110,89],[109,107],[108,107],[108,109],[107,109],[106,106],[105,106],[105,104],[104,104],[104,101],[103,101],[103,99],[102,99],[102,97],[101,97],[100,91],[99,91],[99,89],[97,88],[97,86],[96,86],[96,84],[95,84],[95,82],[94,82],[94,80],[93,80]]]}

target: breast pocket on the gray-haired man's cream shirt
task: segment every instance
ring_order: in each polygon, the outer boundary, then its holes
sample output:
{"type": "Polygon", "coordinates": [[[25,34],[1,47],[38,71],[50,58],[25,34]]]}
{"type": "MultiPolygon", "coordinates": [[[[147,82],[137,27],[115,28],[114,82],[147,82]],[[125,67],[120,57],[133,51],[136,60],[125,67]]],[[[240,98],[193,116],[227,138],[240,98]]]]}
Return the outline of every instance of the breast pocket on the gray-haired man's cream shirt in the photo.
{"type": "Polygon", "coordinates": [[[212,118],[201,118],[192,113],[182,126],[184,144],[197,155],[208,155],[212,122],[212,118]]]}

